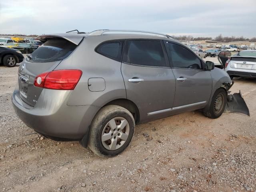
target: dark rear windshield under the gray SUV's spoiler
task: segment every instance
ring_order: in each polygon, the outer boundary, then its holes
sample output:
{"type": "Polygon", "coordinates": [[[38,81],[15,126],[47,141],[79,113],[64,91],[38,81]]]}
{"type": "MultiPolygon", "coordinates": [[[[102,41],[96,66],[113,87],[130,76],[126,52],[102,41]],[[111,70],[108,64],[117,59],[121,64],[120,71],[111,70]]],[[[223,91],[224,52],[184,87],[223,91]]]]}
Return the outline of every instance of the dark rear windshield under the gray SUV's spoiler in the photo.
{"type": "Polygon", "coordinates": [[[52,62],[67,58],[76,48],[76,45],[65,39],[49,39],[36,49],[30,58],[30,62],[52,62]]]}

